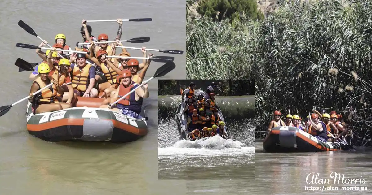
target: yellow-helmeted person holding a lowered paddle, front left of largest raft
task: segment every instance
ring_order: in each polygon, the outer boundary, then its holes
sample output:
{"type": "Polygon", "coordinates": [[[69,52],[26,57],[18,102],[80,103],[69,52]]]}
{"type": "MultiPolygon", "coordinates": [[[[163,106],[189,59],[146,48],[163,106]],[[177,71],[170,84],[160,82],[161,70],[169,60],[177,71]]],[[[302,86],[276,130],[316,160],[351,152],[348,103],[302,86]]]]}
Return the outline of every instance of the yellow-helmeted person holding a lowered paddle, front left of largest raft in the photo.
{"type": "Polygon", "coordinates": [[[63,94],[63,89],[59,86],[58,81],[49,77],[49,65],[46,63],[41,63],[38,68],[39,77],[35,79],[30,89],[29,101],[32,103],[32,112],[34,114],[53,112],[57,110],[62,110],[65,108],[70,108],[70,104],[59,103],[57,100],[57,91],[63,94]],[[33,93],[40,90],[41,88],[47,86],[53,82],[50,88],[46,88],[35,96],[33,93]]]}

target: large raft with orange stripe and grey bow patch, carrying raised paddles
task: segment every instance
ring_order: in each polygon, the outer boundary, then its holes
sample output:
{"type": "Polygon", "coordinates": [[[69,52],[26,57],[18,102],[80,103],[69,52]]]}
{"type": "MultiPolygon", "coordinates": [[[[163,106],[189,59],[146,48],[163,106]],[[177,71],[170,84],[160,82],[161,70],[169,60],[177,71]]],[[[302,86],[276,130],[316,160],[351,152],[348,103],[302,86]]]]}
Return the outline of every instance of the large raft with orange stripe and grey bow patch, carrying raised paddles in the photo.
{"type": "Polygon", "coordinates": [[[147,134],[147,117],[143,107],[143,118],[137,119],[99,108],[103,100],[78,97],[76,107],[40,114],[32,113],[29,102],[27,130],[33,136],[51,142],[132,142],[147,134]]]}

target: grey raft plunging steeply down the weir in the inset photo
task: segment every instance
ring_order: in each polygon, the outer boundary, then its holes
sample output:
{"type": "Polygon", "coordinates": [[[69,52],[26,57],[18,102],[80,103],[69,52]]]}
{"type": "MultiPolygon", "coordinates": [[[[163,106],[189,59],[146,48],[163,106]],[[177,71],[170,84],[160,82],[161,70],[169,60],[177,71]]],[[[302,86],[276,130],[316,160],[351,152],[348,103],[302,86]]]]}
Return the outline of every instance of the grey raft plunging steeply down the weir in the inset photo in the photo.
{"type": "MultiPolygon", "coordinates": [[[[195,90],[195,96],[198,97],[199,94],[205,95],[205,92],[202,91],[202,90],[195,90]]],[[[185,97],[186,97],[186,95],[184,95],[184,98],[185,97]]],[[[185,108],[185,106],[186,106],[185,99],[182,99],[181,103],[178,106],[177,114],[175,116],[175,119],[177,121],[178,131],[181,134],[181,136],[182,136],[183,139],[186,139],[187,138],[187,134],[191,132],[191,131],[189,131],[186,128],[186,125],[187,125],[187,115],[186,114],[182,114],[183,113],[183,109],[185,108]]],[[[219,118],[222,121],[225,122],[224,116],[222,116],[221,111],[218,110],[217,111],[217,114],[218,114],[219,118]]],[[[229,136],[226,125],[225,125],[225,129],[226,129],[226,135],[229,136]]]]}

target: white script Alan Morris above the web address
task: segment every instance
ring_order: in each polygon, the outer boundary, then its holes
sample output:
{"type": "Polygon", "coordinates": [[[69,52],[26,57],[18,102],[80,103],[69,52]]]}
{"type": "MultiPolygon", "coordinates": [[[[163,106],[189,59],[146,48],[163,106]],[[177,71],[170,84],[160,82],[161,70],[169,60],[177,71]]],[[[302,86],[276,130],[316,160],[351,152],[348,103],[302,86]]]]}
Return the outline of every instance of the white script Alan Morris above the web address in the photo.
{"type": "Polygon", "coordinates": [[[315,172],[311,172],[309,173],[307,176],[306,176],[306,183],[307,184],[329,184],[333,181],[333,184],[340,184],[343,183],[343,184],[356,184],[356,183],[367,183],[367,181],[364,179],[364,177],[360,176],[360,178],[349,178],[349,177],[346,177],[344,174],[340,174],[340,173],[337,173],[337,172],[332,172],[330,174],[330,178],[331,179],[328,179],[328,178],[319,178],[319,173],[315,173],[315,172]]]}

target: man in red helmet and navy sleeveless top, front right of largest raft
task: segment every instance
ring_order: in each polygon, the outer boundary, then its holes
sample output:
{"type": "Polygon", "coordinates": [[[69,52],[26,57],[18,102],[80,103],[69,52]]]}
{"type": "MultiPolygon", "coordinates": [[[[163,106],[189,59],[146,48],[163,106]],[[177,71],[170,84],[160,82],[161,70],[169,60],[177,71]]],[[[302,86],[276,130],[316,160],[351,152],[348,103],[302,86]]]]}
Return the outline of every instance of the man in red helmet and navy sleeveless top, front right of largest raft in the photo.
{"type": "MultiPolygon", "coordinates": [[[[132,81],[131,71],[123,70],[119,73],[117,79],[120,81],[120,85],[113,97],[111,97],[111,102],[114,103],[119,98],[123,97],[124,95],[128,94],[134,88],[138,86],[137,83],[132,81]]],[[[135,92],[131,93],[128,97],[124,98],[123,100],[119,101],[118,104],[115,105],[116,108],[113,108],[110,104],[108,105],[101,105],[102,108],[110,108],[111,110],[116,111],[117,113],[124,114],[129,117],[133,118],[142,118],[141,116],[141,107],[143,98],[148,98],[148,85],[145,84],[142,87],[137,88],[135,92]]]]}

